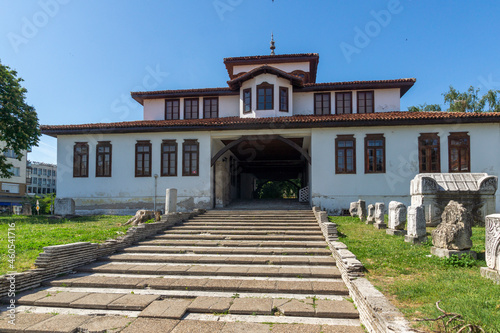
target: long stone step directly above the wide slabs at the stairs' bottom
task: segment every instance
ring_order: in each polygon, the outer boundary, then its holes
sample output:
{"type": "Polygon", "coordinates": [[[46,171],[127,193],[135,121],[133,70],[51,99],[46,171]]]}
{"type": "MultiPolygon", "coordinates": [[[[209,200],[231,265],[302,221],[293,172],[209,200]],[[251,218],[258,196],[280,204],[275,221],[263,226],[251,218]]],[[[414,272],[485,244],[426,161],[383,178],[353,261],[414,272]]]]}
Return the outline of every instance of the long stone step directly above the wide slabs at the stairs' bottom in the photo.
{"type": "Polygon", "coordinates": [[[155,290],[196,290],[214,292],[253,292],[279,294],[311,295],[349,295],[342,281],[282,281],[259,279],[214,279],[214,278],[169,278],[169,277],[122,277],[95,276],[63,277],[43,283],[52,287],[92,287],[92,288],[129,288],[155,290]]]}

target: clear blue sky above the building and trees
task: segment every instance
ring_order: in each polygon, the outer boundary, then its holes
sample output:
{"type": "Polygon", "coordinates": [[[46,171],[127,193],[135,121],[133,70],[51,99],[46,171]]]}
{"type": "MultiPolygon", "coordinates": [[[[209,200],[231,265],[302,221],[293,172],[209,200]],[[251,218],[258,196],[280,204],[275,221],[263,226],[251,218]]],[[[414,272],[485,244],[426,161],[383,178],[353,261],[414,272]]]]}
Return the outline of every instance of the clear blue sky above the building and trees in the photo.
{"type": "MultiPolygon", "coordinates": [[[[138,120],[130,91],[221,87],[224,57],[317,52],[318,82],[415,77],[401,109],[453,85],[500,89],[499,1],[0,0],[0,61],[41,124],[138,120]]],[[[31,160],[55,163],[42,137],[31,160]]]]}

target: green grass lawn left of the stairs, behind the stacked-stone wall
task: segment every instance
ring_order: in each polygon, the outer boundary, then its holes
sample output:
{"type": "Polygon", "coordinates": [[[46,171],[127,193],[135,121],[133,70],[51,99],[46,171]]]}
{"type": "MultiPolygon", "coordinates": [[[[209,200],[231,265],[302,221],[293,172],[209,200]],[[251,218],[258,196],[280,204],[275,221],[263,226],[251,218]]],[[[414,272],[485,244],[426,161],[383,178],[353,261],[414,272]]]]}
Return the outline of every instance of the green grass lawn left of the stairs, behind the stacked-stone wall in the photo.
{"type": "Polygon", "coordinates": [[[43,247],[75,242],[100,243],[116,238],[130,226],[130,216],[85,216],[71,220],[52,220],[47,216],[0,216],[0,275],[12,271],[7,261],[9,224],[15,222],[16,260],[14,271],[34,268],[43,247]]]}

